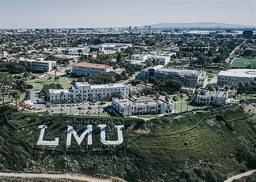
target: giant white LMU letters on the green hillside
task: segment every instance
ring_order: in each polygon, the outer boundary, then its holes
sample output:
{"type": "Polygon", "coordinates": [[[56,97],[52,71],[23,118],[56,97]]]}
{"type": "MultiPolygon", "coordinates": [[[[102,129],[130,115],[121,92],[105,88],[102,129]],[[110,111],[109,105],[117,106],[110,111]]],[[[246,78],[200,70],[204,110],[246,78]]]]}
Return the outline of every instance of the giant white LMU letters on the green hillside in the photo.
{"type": "MultiPolygon", "coordinates": [[[[119,145],[123,143],[123,128],[124,125],[116,125],[117,128],[117,135],[118,139],[117,141],[106,141],[106,124],[99,124],[98,127],[100,127],[100,142],[102,142],[105,145],[119,145]]],[[[44,131],[47,128],[46,125],[39,125],[38,128],[41,128],[40,136],[37,141],[37,145],[48,145],[48,146],[57,146],[59,144],[59,138],[55,138],[54,141],[44,141],[44,131]]],[[[89,124],[84,129],[83,133],[78,136],[77,132],[73,127],[68,126],[68,131],[66,135],[66,147],[69,148],[71,145],[71,137],[72,135],[75,137],[78,145],[80,145],[84,139],[84,137],[87,135],[87,145],[92,145],[92,125],[89,124]]]]}

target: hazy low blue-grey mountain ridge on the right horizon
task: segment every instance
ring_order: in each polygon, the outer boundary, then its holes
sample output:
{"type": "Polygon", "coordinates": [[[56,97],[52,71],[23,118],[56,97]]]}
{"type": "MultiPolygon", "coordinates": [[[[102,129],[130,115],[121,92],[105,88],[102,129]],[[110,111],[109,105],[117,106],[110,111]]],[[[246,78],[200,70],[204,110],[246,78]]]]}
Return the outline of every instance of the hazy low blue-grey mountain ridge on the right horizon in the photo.
{"type": "Polygon", "coordinates": [[[248,25],[227,24],[227,23],[157,23],[152,28],[175,28],[175,27],[253,27],[248,25]]]}

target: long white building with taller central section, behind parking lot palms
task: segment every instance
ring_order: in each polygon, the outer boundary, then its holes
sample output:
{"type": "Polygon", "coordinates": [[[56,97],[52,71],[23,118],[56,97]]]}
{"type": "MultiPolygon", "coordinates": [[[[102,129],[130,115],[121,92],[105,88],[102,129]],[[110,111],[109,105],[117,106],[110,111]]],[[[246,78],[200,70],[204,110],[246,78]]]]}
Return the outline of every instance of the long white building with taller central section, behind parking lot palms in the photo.
{"type": "Polygon", "coordinates": [[[49,89],[50,92],[50,101],[59,102],[59,101],[69,101],[71,100],[70,95],[73,94],[73,100],[87,100],[87,99],[104,99],[107,96],[107,93],[122,93],[127,95],[130,92],[130,87],[125,83],[111,83],[108,85],[89,85],[87,82],[76,82],[75,86],[72,86],[71,89],[49,89]],[[64,93],[62,96],[60,93],[64,93]],[[92,93],[92,97],[89,98],[88,94],[92,93]],[[102,97],[98,98],[98,94],[101,93],[102,97]],[[79,94],[81,98],[79,99],[79,94]]]}

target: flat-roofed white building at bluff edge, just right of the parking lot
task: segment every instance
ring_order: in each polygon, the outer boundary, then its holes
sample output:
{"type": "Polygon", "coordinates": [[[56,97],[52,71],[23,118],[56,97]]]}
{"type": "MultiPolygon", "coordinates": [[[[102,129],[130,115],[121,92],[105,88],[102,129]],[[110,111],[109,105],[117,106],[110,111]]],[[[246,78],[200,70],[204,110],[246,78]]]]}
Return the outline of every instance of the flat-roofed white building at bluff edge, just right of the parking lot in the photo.
{"type": "Polygon", "coordinates": [[[120,115],[131,116],[136,114],[163,114],[172,113],[172,104],[159,99],[146,97],[123,97],[122,99],[113,98],[112,107],[115,108],[120,115]]]}

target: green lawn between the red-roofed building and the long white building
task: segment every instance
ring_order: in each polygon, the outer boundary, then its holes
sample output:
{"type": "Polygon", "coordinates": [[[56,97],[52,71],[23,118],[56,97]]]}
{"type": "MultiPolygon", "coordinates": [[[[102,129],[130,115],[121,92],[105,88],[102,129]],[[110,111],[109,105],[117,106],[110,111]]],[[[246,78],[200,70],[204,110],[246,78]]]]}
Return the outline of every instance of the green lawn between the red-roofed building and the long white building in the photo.
{"type": "MultiPolygon", "coordinates": [[[[50,83],[50,80],[48,80],[48,78],[29,82],[29,84],[31,84],[33,87],[37,87],[41,89],[45,84],[49,84],[49,83],[50,83]]],[[[59,77],[59,81],[55,81],[54,78],[52,78],[51,83],[59,83],[60,85],[63,86],[63,88],[70,88],[69,82],[64,77],[59,77]]]]}

